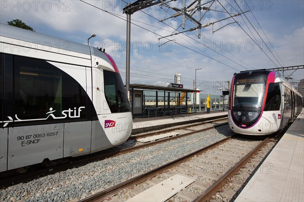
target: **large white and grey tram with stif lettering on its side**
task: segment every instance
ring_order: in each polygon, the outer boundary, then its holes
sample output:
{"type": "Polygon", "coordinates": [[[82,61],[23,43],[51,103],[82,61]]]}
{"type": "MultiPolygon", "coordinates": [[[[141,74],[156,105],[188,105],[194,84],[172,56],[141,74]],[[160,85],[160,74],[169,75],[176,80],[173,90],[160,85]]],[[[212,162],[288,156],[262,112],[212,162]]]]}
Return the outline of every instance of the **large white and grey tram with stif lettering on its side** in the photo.
{"type": "Polygon", "coordinates": [[[0,171],[125,142],[127,93],[96,48],[0,24],[0,171]]]}

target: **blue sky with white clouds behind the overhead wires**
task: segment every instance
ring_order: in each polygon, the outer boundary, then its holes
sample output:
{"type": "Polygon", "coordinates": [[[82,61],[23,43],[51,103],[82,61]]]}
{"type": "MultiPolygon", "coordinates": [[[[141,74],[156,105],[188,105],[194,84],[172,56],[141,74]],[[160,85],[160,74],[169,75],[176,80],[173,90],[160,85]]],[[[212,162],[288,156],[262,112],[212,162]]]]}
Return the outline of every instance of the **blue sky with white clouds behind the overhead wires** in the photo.
{"type": "MultiPolygon", "coordinates": [[[[0,0],[0,22],[20,19],[36,32],[81,44],[95,33],[90,45],[112,56],[125,82],[123,8],[133,2],[0,0]]],[[[186,7],[193,2],[186,0],[186,7]]],[[[193,89],[196,80],[201,91],[220,94],[217,89],[226,88],[234,73],[304,64],[304,1],[218,0],[212,4],[201,0],[201,4],[210,7],[201,11],[201,24],[209,25],[201,28],[201,37],[198,29],[186,31],[197,24],[186,19],[183,29],[183,17],[172,17],[177,13],[172,8],[183,8],[182,0],[169,2],[171,8],[156,5],[131,15],[130,84],[166,86],[180,73],[184,88],[193,89]]],[[[192,17],[198,20],[198,12],[192,17]]],[[[304,71],[289,70],[284,75],[298,82],[304,71]]]]}

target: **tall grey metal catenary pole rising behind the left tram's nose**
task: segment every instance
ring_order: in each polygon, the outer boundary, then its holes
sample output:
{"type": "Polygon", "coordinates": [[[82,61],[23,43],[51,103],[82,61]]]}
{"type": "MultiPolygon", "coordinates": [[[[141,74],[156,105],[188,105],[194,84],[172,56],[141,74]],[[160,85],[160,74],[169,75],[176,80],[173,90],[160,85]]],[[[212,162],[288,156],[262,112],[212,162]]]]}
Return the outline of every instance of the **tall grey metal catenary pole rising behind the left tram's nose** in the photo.
{"type": "Polygon", "coordinates": [[[126,50],[126,91],[130,101],[130,41],[131,41],[131,14],[127,14],[127,50],[126,50]]]}

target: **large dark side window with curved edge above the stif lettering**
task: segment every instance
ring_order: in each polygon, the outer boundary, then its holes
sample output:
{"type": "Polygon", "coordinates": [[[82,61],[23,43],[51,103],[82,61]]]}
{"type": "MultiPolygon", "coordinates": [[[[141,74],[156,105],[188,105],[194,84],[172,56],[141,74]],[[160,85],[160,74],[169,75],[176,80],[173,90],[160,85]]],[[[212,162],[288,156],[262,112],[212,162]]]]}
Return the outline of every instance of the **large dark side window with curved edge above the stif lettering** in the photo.
{"type": "Polygon", "coordinates": [[[71,76],[44,60],[15,56],[14,62],[15,114],[19,119],[85,118],[84,109],[80,114],[74,110],[86,106],[86,92],[71,76]]]}

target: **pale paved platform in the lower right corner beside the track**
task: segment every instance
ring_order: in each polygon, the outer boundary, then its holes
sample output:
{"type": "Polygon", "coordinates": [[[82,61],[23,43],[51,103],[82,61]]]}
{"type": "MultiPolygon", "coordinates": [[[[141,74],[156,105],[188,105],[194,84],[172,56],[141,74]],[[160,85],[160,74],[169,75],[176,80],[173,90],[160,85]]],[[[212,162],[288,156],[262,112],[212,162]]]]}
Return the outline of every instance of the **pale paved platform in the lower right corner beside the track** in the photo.
{"type": "Polygon", "coordinates": [[[235,201],[304,201],[304,109],[235,201]]]}

